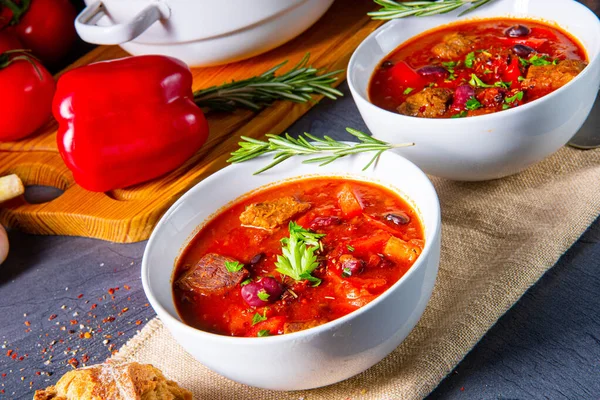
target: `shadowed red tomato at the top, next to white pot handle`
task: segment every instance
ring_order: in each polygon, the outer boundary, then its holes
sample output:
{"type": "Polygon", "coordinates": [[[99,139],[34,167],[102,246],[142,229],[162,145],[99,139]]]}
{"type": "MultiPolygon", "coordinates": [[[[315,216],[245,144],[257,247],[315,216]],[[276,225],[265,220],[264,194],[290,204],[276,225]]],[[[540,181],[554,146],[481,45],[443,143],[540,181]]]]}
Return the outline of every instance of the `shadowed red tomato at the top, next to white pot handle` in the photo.
{"type": "Polygon", "coordinates": [[[77,12],[69,0],[5,1],[23,10],[9,29],[44,64],[55,65],[69,52],[77,38],[77,12]]]}

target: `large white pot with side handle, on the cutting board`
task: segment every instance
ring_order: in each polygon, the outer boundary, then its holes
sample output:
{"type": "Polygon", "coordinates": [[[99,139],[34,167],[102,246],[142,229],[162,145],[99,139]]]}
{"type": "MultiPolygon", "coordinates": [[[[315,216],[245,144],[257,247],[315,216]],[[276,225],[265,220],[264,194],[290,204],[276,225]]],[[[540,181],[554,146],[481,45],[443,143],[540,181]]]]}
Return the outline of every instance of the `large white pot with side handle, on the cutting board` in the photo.
{"type": "Polygon", "coordinates": [[[271,50],[314,24],[333,0],[85,0],[79,36],[133,55],[164,54],[190,66],[225,64],[271,50]]]}

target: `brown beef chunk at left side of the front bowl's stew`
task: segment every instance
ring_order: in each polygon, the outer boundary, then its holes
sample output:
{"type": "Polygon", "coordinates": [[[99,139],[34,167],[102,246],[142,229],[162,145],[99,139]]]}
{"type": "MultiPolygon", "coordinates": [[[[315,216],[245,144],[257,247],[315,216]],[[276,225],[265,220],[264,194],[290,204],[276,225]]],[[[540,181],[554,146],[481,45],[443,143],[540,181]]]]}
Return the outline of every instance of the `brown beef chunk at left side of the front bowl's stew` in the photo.
{"type": "Polygon", "coordinates": [[[202,294],[222,293],[235,287],[248,275],[245,268],[236,272],[227,270],[225,263],[235,261],[231,257],[208,253],[179,278],[177,285],[183,290],[202,294]]]}

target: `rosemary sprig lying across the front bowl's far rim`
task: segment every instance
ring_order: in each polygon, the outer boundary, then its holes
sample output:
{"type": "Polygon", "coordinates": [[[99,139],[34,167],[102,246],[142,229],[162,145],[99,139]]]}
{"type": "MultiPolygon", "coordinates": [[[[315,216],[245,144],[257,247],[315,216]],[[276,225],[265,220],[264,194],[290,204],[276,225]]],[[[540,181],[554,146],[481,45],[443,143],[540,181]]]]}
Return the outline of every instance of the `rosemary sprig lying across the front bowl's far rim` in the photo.
{"type": "Polygon", "coordinates": [[[274,161],[266,167],[256,171],[254,174],[257,175],[293,156],[325,153],[326,155],[324,156],[308,158],[303,161],[305,164],[319,163],[319,165],[322,166],[350,154],[375,152],[373,158],[363,168],[364,171],[369,168],[384,151],[393,148],[414,146],[414,143],[390,144],[352,128],[346,128],[346,131],[357,138],[360,143],[348,144],[338,142],[329,136],[324,136],[321,139],[310,133],[304,133],[304,135],[300,135],[297,139],[291,137],[287,133],[285,136],[267,134],[268,140],[266,141],[242,136],[244,141],[239,142],[240,148],[231,153],[231,158],[227,160],[227,162],[241,163],[262,156],[263,154],[273,153],[274,161]],[[312,142],[309,142],[309,140],[312,142]]]}

